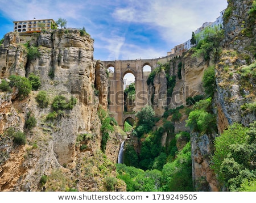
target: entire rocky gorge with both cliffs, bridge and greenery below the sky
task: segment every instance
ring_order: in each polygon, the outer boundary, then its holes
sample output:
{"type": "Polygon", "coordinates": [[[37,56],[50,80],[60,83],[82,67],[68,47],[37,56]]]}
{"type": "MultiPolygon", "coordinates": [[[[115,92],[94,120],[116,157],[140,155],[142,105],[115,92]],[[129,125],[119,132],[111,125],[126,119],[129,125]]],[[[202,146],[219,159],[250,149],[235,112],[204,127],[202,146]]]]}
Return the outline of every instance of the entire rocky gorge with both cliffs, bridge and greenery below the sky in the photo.
{"type": "Polygon", "coordinates": [[[255,5],[230,0],[223,29],[210,30],[174,58],[95,60],[94,40],[79,29],[6,33],[0,191],[238,191],[253,185],[255,5]],[[151,72],[143,72],[144,65],[151,72]],[[135,75],[133,113],[124,113],[126,73],[135,75]],[[129,136],[127,118],[135,120],[129,136]],[[237,140],[217,157],[222,145],[216,143],[225,136],[237,140]]]}

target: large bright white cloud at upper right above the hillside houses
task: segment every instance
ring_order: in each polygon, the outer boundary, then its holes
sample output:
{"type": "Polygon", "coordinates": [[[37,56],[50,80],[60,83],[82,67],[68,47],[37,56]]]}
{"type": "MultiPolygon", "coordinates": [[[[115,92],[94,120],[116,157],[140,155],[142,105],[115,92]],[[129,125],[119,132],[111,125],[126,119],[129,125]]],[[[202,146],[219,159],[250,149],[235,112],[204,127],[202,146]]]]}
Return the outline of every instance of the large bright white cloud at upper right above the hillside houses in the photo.
{"type": "Polygon", "coordinates": [[[148,26],[156,27],[163,39],[170,43],[187,41],[192,31],[204,22],[215,20],[227,4],[225,0],[129,2],[127,7],[114,10],[113,17],[121,22],[146,23],[148,26]],[[213,14],[216,14],[214,18],[213,14]]]}

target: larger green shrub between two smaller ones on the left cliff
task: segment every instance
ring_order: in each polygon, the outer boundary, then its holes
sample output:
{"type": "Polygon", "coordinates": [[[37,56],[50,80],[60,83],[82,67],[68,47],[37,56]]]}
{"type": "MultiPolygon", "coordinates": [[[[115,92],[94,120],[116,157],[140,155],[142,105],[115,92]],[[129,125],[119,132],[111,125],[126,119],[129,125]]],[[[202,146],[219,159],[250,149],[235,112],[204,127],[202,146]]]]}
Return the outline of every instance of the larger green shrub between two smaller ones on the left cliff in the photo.
{"type": "Polygon", "coordinates": [[[25,98],[30,94],[32,90],[32,86],[30,84],[30,81],[28,81],[27,78],[21,77],[19,75],[11,75],[9,77],[10,79],[10,87],[16,87],[18,88],[18,96],[20,96],[20,99],[25,98]]]}

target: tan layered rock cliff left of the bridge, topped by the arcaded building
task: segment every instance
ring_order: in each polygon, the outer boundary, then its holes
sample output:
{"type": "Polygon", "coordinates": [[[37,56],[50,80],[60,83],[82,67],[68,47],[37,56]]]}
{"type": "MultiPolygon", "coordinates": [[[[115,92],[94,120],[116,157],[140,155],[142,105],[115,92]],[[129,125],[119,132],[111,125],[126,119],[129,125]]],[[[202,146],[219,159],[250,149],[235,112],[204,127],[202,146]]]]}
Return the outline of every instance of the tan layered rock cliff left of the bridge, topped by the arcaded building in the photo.
{"type": "MultiPolygon", "coordinates": [[[[108,79],[99,70],[93,60],[93,40],[89,35],[81,36],[79,30],[59,29],[29,39],[18,33],[5,35],[0,48],[1,79],[34,73],[40,77],[41,86],[23,100],[15,98],[15,91],[1,92],[0,191],[40,191],[44,176],[48,177],[43,188],[47,191],[106,189],[105,177],[115,177],[118,136],[123,135],[118,129],[110,133],[106,156],[101,154],[101,121],[97,112],[100,105],[107,107],[108,79]],[[37,51],[31,57],[32,46],[37,51]],[[40,90],[47,92],[50,103],[55,96],[74,96],[77,103],[49,120],[51,105],[40,108],[35,99],[40,90]],[[28,112],[36,119],[31,130],[25,125],[28,112]],[[26,145],[13,144],[13,138],[6,133],[10,127],[26,134],[26,145]],[[102,173],[98,167],[106,165],[109,169],[102,173]],[[56,173],[64,180],[55,183],[51,177],[56,173]]],[[[116,189],[124,190],[124,184],[119,181],[116,189]]]]}

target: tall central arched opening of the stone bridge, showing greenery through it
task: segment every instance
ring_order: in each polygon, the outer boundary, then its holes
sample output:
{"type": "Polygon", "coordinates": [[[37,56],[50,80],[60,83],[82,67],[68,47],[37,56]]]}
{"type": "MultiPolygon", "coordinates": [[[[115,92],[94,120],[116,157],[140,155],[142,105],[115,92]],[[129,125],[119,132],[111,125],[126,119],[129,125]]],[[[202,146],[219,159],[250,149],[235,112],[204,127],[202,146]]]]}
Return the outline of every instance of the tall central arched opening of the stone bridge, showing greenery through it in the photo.
{"type": "Polygon", "coordinates": [[[125,113],[134,113],[135,99],[136,99],[135,77],[131,73],[127,73],[123,77],[123,99],[124,99],[123,111],[125,113]]]}

